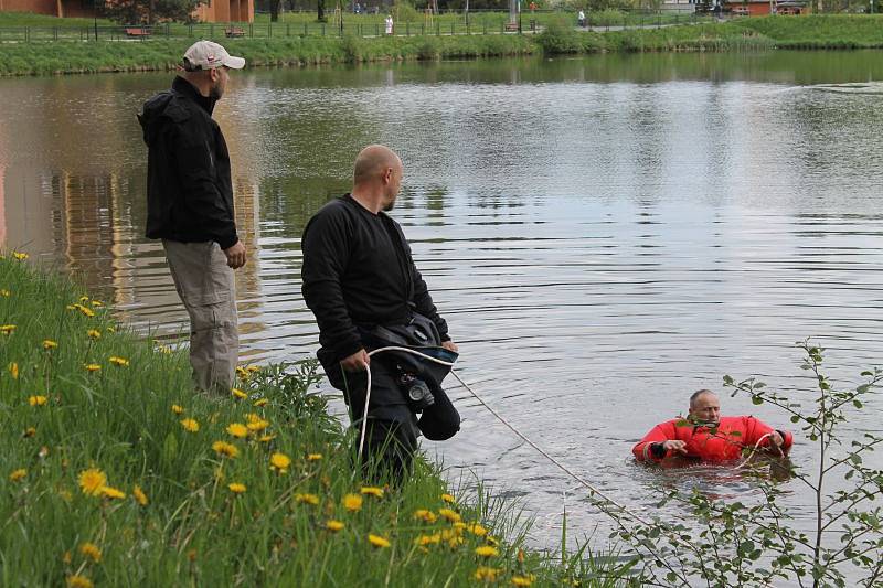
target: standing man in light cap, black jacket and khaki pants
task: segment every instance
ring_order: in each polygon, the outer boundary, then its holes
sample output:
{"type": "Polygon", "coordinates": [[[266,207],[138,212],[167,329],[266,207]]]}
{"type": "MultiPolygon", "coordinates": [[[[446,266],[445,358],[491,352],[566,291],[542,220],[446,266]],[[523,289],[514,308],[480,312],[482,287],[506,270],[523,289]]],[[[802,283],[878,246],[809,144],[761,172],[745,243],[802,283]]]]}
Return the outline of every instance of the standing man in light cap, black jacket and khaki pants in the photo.
{"type": "Polygon", "coordinates": [[[238,354],[233,270],[245,265],[236,235],[230,153],[212,119],[234,57],[211,41],[187,50],[171,89],[147,100],[138,120],[148,146],[147,237],[162,239],[190,316],[196,386],[230,394],[238,354]]]}

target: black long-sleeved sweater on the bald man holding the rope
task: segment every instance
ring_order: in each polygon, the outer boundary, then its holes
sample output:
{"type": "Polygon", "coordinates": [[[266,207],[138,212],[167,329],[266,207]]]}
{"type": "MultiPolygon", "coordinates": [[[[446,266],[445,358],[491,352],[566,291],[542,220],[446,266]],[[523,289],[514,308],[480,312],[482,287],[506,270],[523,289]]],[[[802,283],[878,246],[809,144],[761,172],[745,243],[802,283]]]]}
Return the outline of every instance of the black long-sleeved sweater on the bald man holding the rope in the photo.
{"type": "Polygon", "coordinates": [[[301,291],[319,323],[323,364],[363,348],[358,327],[405,324],[413,310],[436,324],[443,341],[449,339],[402,227],[389,215],[373,214],[347,194],[310,218],[300,247],[301,291]]]}

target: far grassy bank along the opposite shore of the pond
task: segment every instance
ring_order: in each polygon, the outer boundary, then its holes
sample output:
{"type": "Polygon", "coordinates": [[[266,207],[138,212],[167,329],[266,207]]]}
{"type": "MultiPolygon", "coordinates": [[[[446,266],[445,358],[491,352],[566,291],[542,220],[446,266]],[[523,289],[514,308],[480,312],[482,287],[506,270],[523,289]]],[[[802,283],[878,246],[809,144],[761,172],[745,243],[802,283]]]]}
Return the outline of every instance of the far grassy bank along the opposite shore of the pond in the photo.
{"type": "MultiPolygon", "coordinates": [[[[551,21],[536,35],[283,36],[223,39],[251,66],[477,58],[530,54],[883,47],[883,15],[768,17],[661,29],[581,32],[551,21]]],[[[173,70],[192,39],[6,43],[0,75],[173,70]]]]}

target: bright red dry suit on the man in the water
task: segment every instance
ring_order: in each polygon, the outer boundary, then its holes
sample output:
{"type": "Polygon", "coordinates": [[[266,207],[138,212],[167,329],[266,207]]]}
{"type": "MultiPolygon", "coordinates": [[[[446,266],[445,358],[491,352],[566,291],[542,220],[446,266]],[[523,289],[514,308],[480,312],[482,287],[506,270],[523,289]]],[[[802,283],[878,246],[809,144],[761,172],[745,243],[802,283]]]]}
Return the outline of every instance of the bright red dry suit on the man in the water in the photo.
{"type": "MultiPolygon", "coordinates": [[[[638,461],[661,461],[670,455],[680,455],[678,451],[666,451],[662,443],[666,441],[685,441],[687,457],[702,461],[728,461],[742,457],[744,448],[753,448],[759,441],[759,447],[769,447],[773,428],[763,420],[754,417],[721,417],[717,429],[675,418],[653,427],[643,436],[643,439],[631,448],[638,461]]],[[[788,452],[794,442],[794,436],[788,431],[778,431],[784,440],[781,450],[788,452]]]]}

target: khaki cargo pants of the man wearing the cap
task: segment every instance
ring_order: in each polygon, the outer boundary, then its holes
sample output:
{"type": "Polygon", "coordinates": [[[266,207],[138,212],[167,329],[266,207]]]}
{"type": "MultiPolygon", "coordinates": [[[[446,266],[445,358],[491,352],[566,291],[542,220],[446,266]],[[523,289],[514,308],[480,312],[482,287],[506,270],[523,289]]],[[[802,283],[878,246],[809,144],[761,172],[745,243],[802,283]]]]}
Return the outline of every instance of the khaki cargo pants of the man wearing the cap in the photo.
{"type": "Polygon", "coordinates": [[[217,243],[163,239],[162,246],[190,314],[190,364],[196,387],[228,395],[240,350],[233,270],[217,243]]]}

